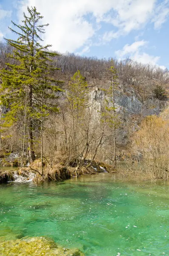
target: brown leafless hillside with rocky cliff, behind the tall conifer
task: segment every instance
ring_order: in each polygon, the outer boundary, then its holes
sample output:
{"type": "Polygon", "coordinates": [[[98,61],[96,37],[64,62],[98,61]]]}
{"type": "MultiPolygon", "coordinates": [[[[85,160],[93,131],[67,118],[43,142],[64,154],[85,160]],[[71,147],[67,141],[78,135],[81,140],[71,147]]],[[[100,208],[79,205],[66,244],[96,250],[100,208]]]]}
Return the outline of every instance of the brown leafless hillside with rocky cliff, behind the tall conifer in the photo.
{"type": "MultiPolygon", "coordinates": [[[[6,62],[14,61],[6,55],[10,52],[12,52],[11,47],[0,44],[1,69],[6,68],[6,62]]],[[[45,158],[52,159],[53,155],[58,152],[66,152],[71,157],[78,155],[84,157],[86,152],[85,159],[94,157],[113,164],[114,154],[118,160],[121,159],[124,150],[128,151],[131,137],[139,129],[143,118],[149,115],[159,115],[167,105],[169,73],[151,64],[143,65],[130,59],[117,61],[112,58],[87,58],[67,53],[55,56],[52,65],[60,69],[53,71],[54,78],[64,82],[61,84],[62,92],[57,92],[57,100],[54,100],[59,107],[59,112],[44,120],[43,151],[45,158]],[[109,68],[112,65],[117,76],[114,85],[114,113],[112,96],[109,94],[112,84],[112,74],[109,68]],[[74,93],[71,91],[70,81],[78,70],[87,84],[87,91],[82,89],[87,105],[81,108],[79,116],[74,116],[75,112],[72,113],[70,107],[70,97],[74,93]],[[109,106],[109,111],[106,110],[106,104],[109,106]],[[100,123],[103,115],[106,124],[104,128],[103,120],[100,123]],[[76,122],[75,134],[72,133],[72,122],[76,122]],[[113,127],[111,122],[117,123],[117,127],[113,127]]],[[[2,113],[6,111],[8,110],[2,109],[2,113]]],[[[3,121],[1,122],[3,124],[3,121]]],[[[14,152],[20,155],[20,151],[23,151],[25,161],[28,162],[27,139],[24,139],[22,129],[23,121],[21,123],[17,121],[15,125],[4,129],[1,133],[1,154],[14,152]],[[23,139],[24,148],[22,148],[23,139]]],[[[40,139],[38,129],[34,123],[34,140],[37,141],[40,139]]],[[[36,156],[40,157],[38,142],[34,144],[34,150],[36,156]]]]}

